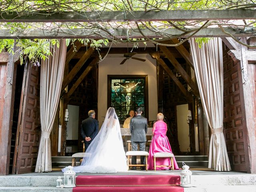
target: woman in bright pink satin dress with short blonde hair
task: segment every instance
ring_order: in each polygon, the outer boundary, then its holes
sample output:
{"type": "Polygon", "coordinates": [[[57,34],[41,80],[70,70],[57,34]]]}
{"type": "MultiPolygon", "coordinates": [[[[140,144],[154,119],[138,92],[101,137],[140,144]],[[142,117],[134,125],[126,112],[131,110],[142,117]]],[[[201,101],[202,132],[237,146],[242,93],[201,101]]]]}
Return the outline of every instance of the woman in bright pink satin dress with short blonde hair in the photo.
{"type": "MultiPolygon", "coordinates": [[[[152,129],[152,142],[149,148],[148,156],[148,170],[154,170],[154,153],[157,152],[169,152],[172,153],[172,149],[169,140],[166,136],[167,125],[163,121],[164,115],[162,113],[157,114],[157,122],[154,123],[152,129]]],[[[179,169],[178,164],[173,158],[174,169],[179,169]]],[[[171,166],[170,158],[156,158],[156,165],[171,166]]],[[[156,170],[170,169],[171,167],[157,167],[156,170]]]]}

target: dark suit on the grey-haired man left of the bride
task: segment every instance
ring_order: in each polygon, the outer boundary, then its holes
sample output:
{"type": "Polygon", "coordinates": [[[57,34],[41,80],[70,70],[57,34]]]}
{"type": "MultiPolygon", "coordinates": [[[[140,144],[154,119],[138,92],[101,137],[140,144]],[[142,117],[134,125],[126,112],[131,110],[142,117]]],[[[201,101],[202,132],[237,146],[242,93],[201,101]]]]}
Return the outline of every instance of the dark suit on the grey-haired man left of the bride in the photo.
{"type": "Polygon", "coordinates": [[[85,149],[88,148],[92,140],[95,138],[95,136],[98,134],[99,129],[99,121],[88,117],[87,119],[82,121],[81,124],[81,136],[84,139],[85,149]],[[90,141],[86,141],[85,137],[90,137],[90,141]]]}

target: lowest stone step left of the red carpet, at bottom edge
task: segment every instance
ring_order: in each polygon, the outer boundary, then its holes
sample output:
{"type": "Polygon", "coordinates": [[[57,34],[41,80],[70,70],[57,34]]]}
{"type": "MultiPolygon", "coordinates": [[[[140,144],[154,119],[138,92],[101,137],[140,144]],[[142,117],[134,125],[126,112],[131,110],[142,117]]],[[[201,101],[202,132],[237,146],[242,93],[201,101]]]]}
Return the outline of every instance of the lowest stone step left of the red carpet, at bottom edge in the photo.
{"type": "Polygon", "coordinates": [[[0,187],[0,192],[72,192],[72,188],[56,187],[0,187]]]}

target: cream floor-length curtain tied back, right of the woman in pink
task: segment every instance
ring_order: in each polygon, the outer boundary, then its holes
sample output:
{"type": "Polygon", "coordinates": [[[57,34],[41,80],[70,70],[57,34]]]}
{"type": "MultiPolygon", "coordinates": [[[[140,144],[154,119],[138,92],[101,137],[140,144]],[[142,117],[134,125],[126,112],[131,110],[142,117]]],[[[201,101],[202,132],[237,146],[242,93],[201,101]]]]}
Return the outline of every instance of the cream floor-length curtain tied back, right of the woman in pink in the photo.
{"type": "Polygon", "coordinates": [[[208,168],[230,171],[223,134],[222,41],[220,38],[211,38],[199,48],[195,39],[191,38],[190,48],[202,106],[212,131],[208,168]]]}

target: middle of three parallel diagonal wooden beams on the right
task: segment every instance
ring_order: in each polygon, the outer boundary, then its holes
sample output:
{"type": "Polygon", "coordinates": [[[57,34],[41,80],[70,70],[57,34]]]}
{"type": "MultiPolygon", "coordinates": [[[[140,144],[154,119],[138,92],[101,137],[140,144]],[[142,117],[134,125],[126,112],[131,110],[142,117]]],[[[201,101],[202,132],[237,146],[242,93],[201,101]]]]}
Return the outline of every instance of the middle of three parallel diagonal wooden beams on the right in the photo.
{"type": "Polygon", "coordinates": [[[168,60],[172,63],[174,68],[178,70],[178,72],[181,74],[182,78],[188,83],[188,85],[192,88],[192,90],[197,90],[196,84],[193,82],[193,80],[190,78],[190,76],[187,74],[187,72],[182,68],[180,63],[176,60],[174,55],[168,50],[165,46],[160,46],[160,50],[166,55],[168,60]]]}

